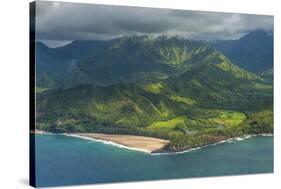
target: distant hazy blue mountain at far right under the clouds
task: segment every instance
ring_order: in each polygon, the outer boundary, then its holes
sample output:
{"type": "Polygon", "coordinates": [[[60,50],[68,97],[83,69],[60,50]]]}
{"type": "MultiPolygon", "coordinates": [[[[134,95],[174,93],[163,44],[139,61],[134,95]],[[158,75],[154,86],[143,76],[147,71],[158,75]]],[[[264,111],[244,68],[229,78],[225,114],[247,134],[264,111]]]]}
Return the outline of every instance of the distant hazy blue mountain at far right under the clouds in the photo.
{"type": "Polygon", "coordinates": [[[251,72],[262,73],[273,68],[272,33],[256,30],[238,40],[217,42],[214,47],[251,72]]]}

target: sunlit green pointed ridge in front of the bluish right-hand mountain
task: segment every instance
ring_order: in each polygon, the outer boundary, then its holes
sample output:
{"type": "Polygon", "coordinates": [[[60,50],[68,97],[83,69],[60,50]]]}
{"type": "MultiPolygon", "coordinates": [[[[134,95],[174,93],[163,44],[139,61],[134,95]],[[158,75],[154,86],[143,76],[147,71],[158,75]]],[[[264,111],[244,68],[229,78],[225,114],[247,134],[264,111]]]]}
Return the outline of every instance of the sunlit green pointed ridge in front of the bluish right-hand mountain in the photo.
{"type": "Polygon", "coordinates": [[[210,56],[212,59],[205,63],[194,65],[185,73],[169,78],[169,86],[206,107],[240,110],[246,107],[248,110],[257,110],[272,103],[271,98],[264,98],[271,97],[271,85],[231,64],[221,53],[215,52],[210,56]]]}

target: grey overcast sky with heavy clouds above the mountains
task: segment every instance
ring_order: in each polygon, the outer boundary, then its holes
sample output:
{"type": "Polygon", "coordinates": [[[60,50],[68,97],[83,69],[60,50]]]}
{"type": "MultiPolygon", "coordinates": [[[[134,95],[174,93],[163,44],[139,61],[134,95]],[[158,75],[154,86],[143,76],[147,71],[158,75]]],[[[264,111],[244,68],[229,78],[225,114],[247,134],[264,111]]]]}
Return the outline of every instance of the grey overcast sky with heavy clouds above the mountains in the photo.
{"type": "Polygon", "coordinates": [[[124,35],[178,35],[194,40],[237,39],[272,31],[273,17],[64,2],[36,2],[36,40],[59,46],[72,40],[124,35]]]}

